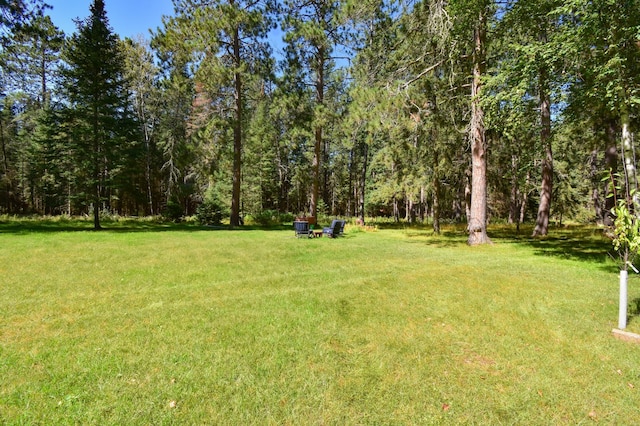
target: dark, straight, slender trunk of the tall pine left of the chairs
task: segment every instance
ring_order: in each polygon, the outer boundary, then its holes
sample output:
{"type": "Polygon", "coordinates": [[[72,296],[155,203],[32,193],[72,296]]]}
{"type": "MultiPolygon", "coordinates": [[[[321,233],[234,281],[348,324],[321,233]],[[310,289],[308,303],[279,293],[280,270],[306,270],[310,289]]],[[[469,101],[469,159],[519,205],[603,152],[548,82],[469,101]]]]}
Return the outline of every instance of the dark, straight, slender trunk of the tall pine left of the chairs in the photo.
{"type": "Polygon", "coordinates": [[[235,67],[234,80],[234,100],[235,119],[233,123],[233,186],[231,195],[231,227],[240,226],[240,182],[242,171],[242,77],[240,75],[240,33],[239,28],[235,28],[233,34],[233,55],[235,67]]]}

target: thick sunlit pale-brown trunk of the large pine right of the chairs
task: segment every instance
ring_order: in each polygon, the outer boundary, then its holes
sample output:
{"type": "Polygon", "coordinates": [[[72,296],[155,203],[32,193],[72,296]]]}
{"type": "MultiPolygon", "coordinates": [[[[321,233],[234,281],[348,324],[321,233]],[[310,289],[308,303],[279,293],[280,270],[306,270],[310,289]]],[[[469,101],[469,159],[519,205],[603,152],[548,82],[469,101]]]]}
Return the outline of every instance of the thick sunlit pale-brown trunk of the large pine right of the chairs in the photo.
{"type": "Polygon", "coordinates": [[[485,63],[487,19],[480,12],[475,29],[473,53],[473,82],[471,84],[471,208],[469,216],[469,245],[491,243],[487,235],[487,146],[484,131],[484,111],[480,105],[482,76],[485,63]]]}

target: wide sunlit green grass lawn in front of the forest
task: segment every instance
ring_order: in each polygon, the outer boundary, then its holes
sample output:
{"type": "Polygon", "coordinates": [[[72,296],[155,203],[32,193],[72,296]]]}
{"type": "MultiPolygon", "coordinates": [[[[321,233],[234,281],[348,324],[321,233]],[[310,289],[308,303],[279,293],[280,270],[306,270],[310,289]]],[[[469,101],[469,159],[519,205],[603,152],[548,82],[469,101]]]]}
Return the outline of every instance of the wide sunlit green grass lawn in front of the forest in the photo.
{"type": "Polygon", "coordinates": [[[0,223],[0,423],[638,421],[598,231],[106,226],[0,223]]]}

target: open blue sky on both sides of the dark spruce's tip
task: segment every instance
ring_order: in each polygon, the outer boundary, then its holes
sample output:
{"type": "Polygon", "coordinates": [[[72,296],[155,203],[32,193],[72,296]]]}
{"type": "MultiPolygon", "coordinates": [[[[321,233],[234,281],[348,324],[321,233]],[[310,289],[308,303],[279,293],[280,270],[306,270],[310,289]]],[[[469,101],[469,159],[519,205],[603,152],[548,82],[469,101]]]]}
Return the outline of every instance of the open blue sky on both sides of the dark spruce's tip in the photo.
{"type": "MultiPolygon", "coordinates": [[[[89,16],[92,0],[46,0],[45,3],[53,6],[47,10],[53,24],[71,35],[76,31],[73,20],[89,16]]],[[[104,0],[104,4],[109,24],[121,38],[134,38],[138,34],[150,38],[149,29],[160,27],[163,15],[173,15],[171,0],[104,0]]]]}

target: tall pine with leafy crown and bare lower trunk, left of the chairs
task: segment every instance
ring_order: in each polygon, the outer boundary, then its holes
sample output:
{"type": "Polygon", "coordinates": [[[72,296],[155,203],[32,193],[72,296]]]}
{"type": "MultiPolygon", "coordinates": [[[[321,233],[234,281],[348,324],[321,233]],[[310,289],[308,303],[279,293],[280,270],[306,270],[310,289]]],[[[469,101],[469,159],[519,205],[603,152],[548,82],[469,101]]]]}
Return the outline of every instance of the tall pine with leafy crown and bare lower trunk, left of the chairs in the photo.
{"type": "Polygon", "coordinates": [[[187,50],[194,59],[191,65],[200,93],[195,125],[206,128],[205,133],[213,140],[226,139],[222,127],[232,129],[230,224],[237,226],[241,222],[248,80],[260,74],[258,69],[268,56],[264,40],[271,28],[269,17],[274,5],[271,1],[246,0],[190,0],[174,4],[176,17],[166,23],[166,34],[177,37],[173,40],[175,46],[187,50]],[[185,40],[188,43],[183,43],[185,40]],[[219,114],[214,117],[213,111],[219,114]]]}

